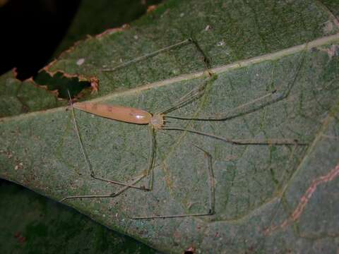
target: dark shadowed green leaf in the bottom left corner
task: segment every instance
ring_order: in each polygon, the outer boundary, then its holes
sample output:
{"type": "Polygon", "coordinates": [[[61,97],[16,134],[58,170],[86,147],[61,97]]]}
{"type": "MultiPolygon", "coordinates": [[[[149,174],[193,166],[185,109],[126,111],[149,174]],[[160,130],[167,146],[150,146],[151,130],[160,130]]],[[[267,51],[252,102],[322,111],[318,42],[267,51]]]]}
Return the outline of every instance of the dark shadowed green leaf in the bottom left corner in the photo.
{"type": "Polygon", "coordinates": [[[5,181],[0,189],[1,253],[155,253],[28,189],[5,181]]]}

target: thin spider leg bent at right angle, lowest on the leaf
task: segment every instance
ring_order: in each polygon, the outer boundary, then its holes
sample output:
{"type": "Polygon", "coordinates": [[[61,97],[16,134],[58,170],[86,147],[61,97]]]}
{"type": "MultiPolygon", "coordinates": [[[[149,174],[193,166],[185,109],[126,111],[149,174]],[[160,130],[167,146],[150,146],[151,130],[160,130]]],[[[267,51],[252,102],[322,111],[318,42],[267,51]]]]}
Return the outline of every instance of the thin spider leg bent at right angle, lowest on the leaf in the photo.
{"type": "Polygon", "coordinates": [[[165,219],[165,218],[182,218],[182,217],[199,217],[199,216],[208,216],[215,214],[215,179],[213,174],[213,164],[212,164],[212,156],[203,150],[203,148],[194,145],[199,150],[203,151],[203,153],[207,157],[207,169],[208,169],[208,186],[209,186],[209,195],[208,195],[208,203],[209,209],[208,212],[205,213],[195,213],[195,214],[174,214],[174,215],[156,215],[149,217],[130,217],[131,219],[165,219]]]}

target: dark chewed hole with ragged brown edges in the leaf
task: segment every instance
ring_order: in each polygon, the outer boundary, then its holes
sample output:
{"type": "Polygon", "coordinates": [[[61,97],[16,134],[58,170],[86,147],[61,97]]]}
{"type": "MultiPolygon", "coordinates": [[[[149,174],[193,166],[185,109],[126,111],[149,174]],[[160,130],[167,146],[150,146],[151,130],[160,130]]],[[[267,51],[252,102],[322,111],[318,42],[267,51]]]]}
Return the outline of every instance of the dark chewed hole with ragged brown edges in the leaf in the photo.
{"type": "Polygon", "coordinates": [[[81,81],[77,77],[65,77],[63,73],[55,73],[53,76],[45,71],[38,73],[35,82],[39,85],[45,85],[48,90],[58,91],[58,97],[61,99],[69,99],[67,90],[71,93],[71,97],[81,97],[91,92],[91,85],[88,81],[81,81]]]}

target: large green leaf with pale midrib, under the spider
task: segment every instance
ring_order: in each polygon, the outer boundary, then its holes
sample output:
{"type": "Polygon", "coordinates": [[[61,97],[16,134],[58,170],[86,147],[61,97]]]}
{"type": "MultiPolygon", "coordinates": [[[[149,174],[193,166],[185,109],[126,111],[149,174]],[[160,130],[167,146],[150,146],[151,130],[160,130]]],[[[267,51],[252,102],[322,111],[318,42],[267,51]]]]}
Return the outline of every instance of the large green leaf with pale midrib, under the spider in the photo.
{"type": "MultiPolygon", "coordinates": [[[[227,121],[170,119],[166,126],[236,140],[307,143],[234,145],[189,132],[156,131],[153,191],[129,189],[116,198],[66,203],[167,253],[190,248],[196,253],[314,248],[334,252],[339,35],[333,8],[331,1],[327,5],[320,1],[167,1],[131,28],[93,37],[62,54],[45,70],[95,76],[100,80],[99,92],[86,99],[97,97],[97,102],[154,113],[175,106],[177,99],[206,83],[200,99],[170,114],[203,118],[231,112],[232,117],[227,121]],[[112,73],[100,71],[118,65],[120,59],[130,61],[189,37],[201,51],[190,43],[112,73]],[[202,52],[210,60],[212,77],[206,76],[202,52]],[[208,211],[206,157],[194,145],[212,156],[215,214],[130,219],[208,211]]],[[[147,168],[146,126],[81,111],[76,111],[76,119],[98,176],[128,181],[147,168]]],[[[90,178],[71,112],[65,108],[0,121],[2,178],[55,200],[121,189],[90,178]]],[[[144,179],[140,184],[146,183],[144,179]]]]}

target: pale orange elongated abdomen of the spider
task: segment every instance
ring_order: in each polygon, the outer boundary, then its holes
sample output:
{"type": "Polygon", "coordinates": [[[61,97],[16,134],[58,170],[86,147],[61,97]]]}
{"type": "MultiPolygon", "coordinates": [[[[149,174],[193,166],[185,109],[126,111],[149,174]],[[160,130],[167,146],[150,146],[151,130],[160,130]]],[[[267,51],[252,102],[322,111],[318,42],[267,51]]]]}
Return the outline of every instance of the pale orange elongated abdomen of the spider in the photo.
{"type": "Polygon", "coordinates": [[[148,113],[148,111],[131,107],[97,104],[91,102],[78,102],[73,104],[73,107],[91,114],[95,114],[97,116],[102,116],[117,121],[124,121],[127,123],[148,124],[152,118],[152,115],[148,113]]]}

